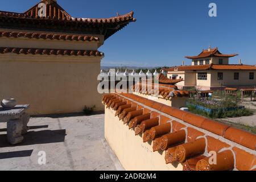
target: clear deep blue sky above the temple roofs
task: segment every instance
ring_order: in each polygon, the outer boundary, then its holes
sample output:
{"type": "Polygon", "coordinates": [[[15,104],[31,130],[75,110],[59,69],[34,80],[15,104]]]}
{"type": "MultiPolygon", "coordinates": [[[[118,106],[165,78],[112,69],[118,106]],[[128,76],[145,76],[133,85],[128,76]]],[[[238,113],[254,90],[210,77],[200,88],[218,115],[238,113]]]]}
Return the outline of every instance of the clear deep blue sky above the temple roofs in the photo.
{"type": "MultiPolygon", "coordinates": [[[[36,0],[10,0],[1,10],[23,12],[36,0]]],[[[109,18],[134,11],[137,22],[106,40],[102,65],[141,67],[191,64],[184,56],[198,55],[211,45],[222,53],[239,53],[230,63],[256,64],[256,1],[254,0],[58,0],[77,18],[109,18]],[[217,17],[208,5],[217,4],[217,17]]]]}

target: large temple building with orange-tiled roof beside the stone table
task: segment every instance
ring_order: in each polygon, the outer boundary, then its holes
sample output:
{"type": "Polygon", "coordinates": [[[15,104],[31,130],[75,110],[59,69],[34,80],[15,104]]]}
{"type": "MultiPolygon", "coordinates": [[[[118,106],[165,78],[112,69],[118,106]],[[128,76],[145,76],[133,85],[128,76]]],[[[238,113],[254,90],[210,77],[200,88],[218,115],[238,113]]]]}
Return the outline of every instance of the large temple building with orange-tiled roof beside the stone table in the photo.
{"type": "Polygon", "coordinates": [[[29,114],[104,110],[97,91],[104,53],[98,48],[135,22],[133,14],[74,18],[56,0],[24,13],[0,11],[0,99],[31,104],[29,114]]]}

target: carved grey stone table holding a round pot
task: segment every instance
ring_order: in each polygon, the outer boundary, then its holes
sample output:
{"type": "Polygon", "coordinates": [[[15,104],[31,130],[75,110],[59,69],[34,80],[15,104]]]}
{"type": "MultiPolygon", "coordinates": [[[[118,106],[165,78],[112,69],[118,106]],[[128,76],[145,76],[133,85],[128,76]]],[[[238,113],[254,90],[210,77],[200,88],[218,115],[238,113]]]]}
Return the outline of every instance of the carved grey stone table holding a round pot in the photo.
{"type": "Polygon", "coordinates": [[[27,133],[30,116],[25,111],[30,105],[16,105],[13,109],[0,106],[0,122],[7,122],[7,140],[11,144],[21,143],[27,133]]]}

